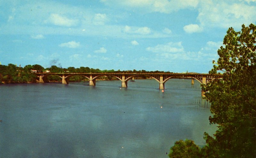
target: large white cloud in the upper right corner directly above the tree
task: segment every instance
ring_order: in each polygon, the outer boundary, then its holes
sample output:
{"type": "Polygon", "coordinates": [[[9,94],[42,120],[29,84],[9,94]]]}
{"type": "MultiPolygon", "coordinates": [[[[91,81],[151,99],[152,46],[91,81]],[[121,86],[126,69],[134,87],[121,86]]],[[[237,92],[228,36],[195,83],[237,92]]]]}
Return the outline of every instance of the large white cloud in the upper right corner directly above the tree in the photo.
{"type": "Polygon", "coordinates": [[[202,26],[241,28],[242,24],[255,23],[255,5],[245,3],[228,4],[224,1],[201,1],[197,19],[202,26]]]}

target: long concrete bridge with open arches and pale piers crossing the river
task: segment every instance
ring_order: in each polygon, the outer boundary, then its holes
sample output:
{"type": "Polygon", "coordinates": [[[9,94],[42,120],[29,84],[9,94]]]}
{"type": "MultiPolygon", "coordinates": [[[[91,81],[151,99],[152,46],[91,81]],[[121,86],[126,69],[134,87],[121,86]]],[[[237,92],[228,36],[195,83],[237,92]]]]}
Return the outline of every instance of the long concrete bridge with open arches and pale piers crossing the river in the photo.
{"type": "MultiPolygon", "coordinates": [[[[164,89],[164,83],[169,79],[191,79],[191,84],[197,80],[201,84],[206,84],[213,79],[221,79],[221,74],[205,74],[205,73],[36,73],[39,83],[49,75],[57,75],[62,79],[62,84],[68,84],[69,78],[75,75],[84,76],[89,80],[90,86],[96,86],[96,79],[101,76],[113,76],[121,81],[121,87],[128,87],[128,81],[135,77],[148,77],[155,79],[159,83],[159,89],[164,89]]],[[[202,96],[204,92],[202,91],[202,96]]]]}

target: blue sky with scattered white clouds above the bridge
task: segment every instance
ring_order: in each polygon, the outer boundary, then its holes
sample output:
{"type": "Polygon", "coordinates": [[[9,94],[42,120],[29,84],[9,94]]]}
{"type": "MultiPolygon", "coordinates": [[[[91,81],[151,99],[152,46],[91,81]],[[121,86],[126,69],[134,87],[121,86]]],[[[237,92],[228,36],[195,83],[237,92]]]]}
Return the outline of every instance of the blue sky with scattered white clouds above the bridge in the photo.
{"type": "Polygon", "coordinates": [[[208,73],[256,0],[0,0],[0,62],[208,73]]]}

